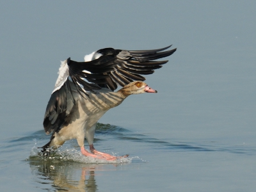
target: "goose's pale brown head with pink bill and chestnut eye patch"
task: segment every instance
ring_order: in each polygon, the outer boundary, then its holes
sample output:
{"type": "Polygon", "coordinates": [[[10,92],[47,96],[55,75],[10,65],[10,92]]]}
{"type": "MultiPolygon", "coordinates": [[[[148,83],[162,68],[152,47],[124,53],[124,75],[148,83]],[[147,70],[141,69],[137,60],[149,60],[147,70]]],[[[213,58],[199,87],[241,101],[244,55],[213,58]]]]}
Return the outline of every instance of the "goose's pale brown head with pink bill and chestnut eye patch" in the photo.
{"type": "Polygon", "coordinates": [[[140,93],[157,93],[156,90],[150,88],[147,83],[143,81],[134,81],[124,86],[124,88],[120,89],[118,92],[122,93],[125,96],[129,96],[132,94],[140,94],[140,93]]]}

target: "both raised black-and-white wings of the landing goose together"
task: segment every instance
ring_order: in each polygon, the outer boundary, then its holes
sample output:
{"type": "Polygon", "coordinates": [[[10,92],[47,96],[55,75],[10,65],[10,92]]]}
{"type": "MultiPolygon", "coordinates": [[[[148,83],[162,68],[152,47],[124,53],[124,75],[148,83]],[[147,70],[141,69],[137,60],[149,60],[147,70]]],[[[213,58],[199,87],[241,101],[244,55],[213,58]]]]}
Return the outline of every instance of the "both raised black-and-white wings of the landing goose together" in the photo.
{"type": "Polygon", "coordinates": [[[164,51],[169,47],[144,51],[106,48],[85,56],[84,62],[72,61],[70,58],[61,62],[59,76],[45,111],[45,132],[58,131],[65,122],[65,117],[76,104],[74,90],[86,97],[86,92],[103,87],[116,90],[118,85],[144,81],[143,75],[154,73],[154,70],[168,62],[154,60],[170,56],[176,51],[164,51]]]}

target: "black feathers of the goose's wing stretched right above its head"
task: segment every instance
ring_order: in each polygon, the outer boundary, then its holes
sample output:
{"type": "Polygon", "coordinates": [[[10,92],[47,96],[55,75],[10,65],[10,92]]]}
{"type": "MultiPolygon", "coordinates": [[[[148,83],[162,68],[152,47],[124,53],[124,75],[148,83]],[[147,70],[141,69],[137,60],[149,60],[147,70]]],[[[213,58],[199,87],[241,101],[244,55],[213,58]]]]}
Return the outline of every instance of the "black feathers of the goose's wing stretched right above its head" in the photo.
{"type": "Polygon", "coordinates": [[[97,53],[102,56],[97,60],[77,62],[68,58],[69,74],[76,85],[77,92],[80,94],[87,95],[86,90],[93,92],[93,90],[99,90],[102,87],[116,90],[118,84],[125,86],[131,81],[144,81],[145,77],[141,75],[152,74],[154,70],[161,68],[168,60],[154,60],[173,54],[176,49],[164,51],[170,47],[171,45],[161,49],[143,51],[125,51],[113,48],[100,49],[97,53]],[[84,73],[83,70],[87,70],[92,74],[84,73]],[[97,84],[97,86],[83,83],[84,81],[81,80],[83,78],[97,84]],[[79,84],[83,85],[83,89],[79,84]]]}

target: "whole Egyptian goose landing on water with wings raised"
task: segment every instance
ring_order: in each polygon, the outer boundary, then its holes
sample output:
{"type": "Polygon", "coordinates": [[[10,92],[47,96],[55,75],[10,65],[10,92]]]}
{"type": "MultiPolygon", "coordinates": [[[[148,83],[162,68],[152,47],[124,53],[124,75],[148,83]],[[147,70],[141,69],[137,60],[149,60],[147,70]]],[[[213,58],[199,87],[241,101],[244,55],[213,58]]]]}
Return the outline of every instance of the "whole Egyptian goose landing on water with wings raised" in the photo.
{"type": "Polygon", "coordinates": [[[105,48],[84,56],[78,62],[68,58],[61,61],[59,76],[51,94],[44,116],[44,130],[51,135],[44,145],[44,156],[56,150],[65,141],[76,139],[81,153],[87,157],[113,161],[125,156],[112,156],[99,152],[93,146],[98,120],[109,109],[120,105],[132,94],[157,93],[145,83],[144,75],[153,74],[168,60],[155,61],[170,56],[177,49],[126,51],[105,48]],[[114,92],[118,86],[120,90],[114,92]],[[84,138],[90,151],[84,148],[84,138]]]}

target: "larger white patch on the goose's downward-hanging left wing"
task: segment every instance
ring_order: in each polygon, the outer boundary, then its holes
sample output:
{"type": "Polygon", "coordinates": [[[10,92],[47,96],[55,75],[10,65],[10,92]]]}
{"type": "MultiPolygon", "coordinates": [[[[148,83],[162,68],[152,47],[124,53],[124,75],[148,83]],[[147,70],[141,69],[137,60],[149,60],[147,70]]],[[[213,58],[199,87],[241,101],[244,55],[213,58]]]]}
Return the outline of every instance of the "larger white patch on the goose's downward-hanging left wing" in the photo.
{"type": "Polygon", "coordinates": [[[56,90],[59,90],[61,86],[63,86],[63,84],[67,81],[67,78],[69,76],[67,60],[61,61],[58,74],[59,76],[55,83],[54,90],[52,93],[56,92],[56,90]]]}

